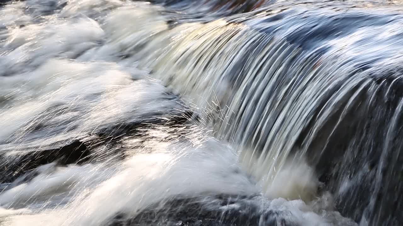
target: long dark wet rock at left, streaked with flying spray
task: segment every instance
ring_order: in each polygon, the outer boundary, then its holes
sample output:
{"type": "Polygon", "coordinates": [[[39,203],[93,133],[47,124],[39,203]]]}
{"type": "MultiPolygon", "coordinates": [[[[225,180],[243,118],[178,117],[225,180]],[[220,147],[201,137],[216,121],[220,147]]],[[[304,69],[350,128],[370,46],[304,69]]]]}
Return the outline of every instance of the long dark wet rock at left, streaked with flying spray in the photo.
{"type": "MultiPolygon", "coordinates": [[[[42,144],[35,142],[35,146],[24,146],[24,143],[2,144],[2,153],[16,152],[0,158],[2,174],[0,174],[0,183],[10,183],[35,168],[57,162],[60,165],[83,164],[93,161],[101,161],[112,158],[125,158],[125,150],[141,148],[144,142],[152,139],[161,139],[155,137],[153,131],[160,131],[160,126],[170,127],[170,130],[177,129],[176,136],[167,136],[165,139],[178,139],[181,134],[186,134],[186,127],[191,126],[189,120],[193,115],[192,111],[183,109],[180,115],[164,115],[156,112],[156,115],[143,115],[143,120],[136,123],[121,124],[102,128],[93,133],[88,132],[79,140],[62,140],[54,144],[42,144]],[[142,138],[131,143],[131,147],[124,146],[122,142],[128,138],[142,138]]],[[[28,124],[30,122],[27,122],[28,124]]],[[[68,123],[67,123],[68,124],[68,123]]],[[[31,133],[41,132],[42,125],[36,125],[31,129],[31,133]]],[[[24,135],[29,141],[29,132],[24,135]]],[[[35,137],[35,136],[34,136],[35,137]]],[[[162,141],[162,140],[161,140],[162,141]]],[[[44,140],[43,142],[46,142],[44,140]]],[[[29,144],[29,142],[28,142],[29,144]]],[[[35,172],[35,171],[33,171],[35,172]]],[[[32,175],[31,175],[32,176],[32,175]]],[[[31,177],[30,176],[30,177],[31,177]]]]}

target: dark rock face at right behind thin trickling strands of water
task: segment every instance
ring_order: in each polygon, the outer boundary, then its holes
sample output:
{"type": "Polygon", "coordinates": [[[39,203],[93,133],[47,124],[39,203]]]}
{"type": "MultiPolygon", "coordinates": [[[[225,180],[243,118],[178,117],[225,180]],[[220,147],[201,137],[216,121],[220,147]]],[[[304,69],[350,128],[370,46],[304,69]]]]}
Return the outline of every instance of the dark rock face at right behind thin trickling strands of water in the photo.
{"type": "Polygon", "coordinates": [[[357,222],[364,218],[370,225],[399,225],[403,222],[403,82],[397,78],[403,73],[380,72],[355,99],[349,100],[352,92],[341,101],[339,111],[327,119],[307,150],[343,216],[357,222]]]}

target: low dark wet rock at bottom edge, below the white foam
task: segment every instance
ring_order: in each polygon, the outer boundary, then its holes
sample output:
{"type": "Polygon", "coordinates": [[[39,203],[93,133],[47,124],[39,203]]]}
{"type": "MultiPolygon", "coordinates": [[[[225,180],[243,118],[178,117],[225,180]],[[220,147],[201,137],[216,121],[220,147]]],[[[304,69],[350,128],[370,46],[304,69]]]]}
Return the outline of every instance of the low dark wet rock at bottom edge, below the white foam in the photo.
{"type": "Polygon", "coordinates": [[[291,213],[265,210],[259,197],[206,195],[175,198],[151,207],[135,218],[118,214],[108,226],[298,226],[291,213]]]}

